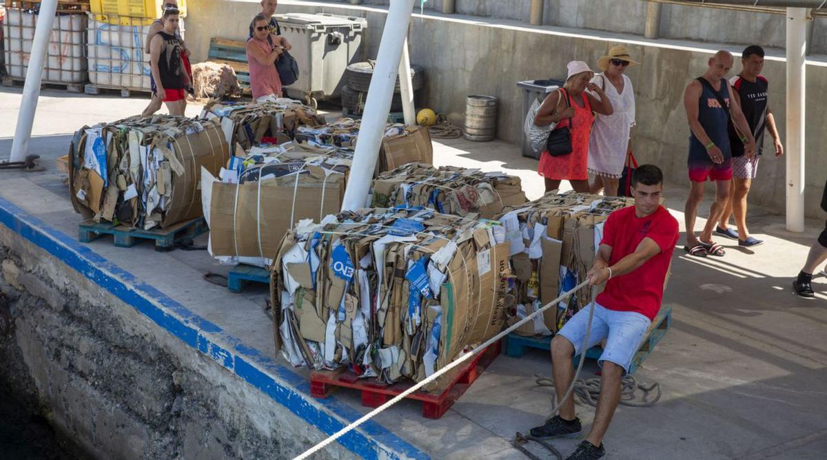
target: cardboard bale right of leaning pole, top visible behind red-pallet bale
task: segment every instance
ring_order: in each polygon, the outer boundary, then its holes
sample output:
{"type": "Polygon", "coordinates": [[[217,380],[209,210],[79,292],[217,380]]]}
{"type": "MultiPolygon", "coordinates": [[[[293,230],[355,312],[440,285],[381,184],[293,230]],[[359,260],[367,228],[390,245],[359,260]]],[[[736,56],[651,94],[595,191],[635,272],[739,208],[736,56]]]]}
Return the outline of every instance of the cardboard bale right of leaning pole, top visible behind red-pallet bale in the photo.
{"type": "Polygon", "coordinates": [[[373,206],[425,206],[454,216],[490,219],[526,202],[516,176],[479,169],[410,163],[373,181],[373,206]]]}

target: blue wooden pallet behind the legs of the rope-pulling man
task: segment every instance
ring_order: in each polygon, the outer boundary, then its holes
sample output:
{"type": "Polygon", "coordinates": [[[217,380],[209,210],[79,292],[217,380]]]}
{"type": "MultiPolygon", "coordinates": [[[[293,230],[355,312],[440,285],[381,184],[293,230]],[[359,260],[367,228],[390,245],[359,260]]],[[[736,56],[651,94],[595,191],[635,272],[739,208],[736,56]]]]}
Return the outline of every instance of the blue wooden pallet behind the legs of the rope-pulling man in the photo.
{"type": "MultiPolygon", "coordinates": [[[[662,306],[661,311],[657,313],[655,320],[652,321],[652,325],[649,326],[649,329],[638,345],[638,351],[634,353],[632,363],[629,365],[629,374],[633,374],[638,370],[640,365],[643,364],[643,361],[648,358],[649,353],[652,353],[655,345],[663,339],[663,336],[667,334],[670,328],[672,328],[672,307],[662,306]]],[[[519,358],[523,356],[526,349],[542,349],[544,352],[549,353],[551,344],[551,335],[525,337],[511,333],[505,338],[505,354],[512,358],[519,358]]],[[[600,358],[600,354],[602,353],[603,349],[598,345],[586,352],[586,358],[597,359],[600,358]]],[[[575,365],[579,359],[580,357],[575,358],[575,365]]]]}

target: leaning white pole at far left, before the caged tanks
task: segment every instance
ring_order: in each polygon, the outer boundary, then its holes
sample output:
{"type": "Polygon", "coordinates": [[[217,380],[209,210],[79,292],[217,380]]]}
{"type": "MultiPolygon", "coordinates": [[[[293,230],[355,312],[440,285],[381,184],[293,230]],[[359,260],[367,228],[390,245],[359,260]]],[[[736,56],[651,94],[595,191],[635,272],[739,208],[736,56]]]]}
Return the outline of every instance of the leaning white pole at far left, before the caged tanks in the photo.
{"type": "Polygon", "coordinates": [[[26,69],[26,80],[23,84],[23,97],[20,102],[20,111],[17,113],[17,128],[12,140],[12,155],[9,161],[23,161],[29,150],[31,139],[31,125],[35,122],[37,98],[41,95],[41,78],[46,50],[49,47],[51,28],[55,23],[57,0],[43,0],[41,11],[37,15],[35,39],[31,44],[29,67],[26,69]]]}

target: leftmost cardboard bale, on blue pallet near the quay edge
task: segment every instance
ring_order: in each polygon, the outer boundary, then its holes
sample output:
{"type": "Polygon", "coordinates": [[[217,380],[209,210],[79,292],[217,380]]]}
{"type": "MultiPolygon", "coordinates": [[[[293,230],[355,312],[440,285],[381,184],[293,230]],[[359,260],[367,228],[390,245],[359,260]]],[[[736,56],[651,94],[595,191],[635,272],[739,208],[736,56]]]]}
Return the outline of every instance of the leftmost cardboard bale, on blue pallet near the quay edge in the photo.
{"type": "Polygon", "coordinates": [[[218,121],[133,116],[84,126],[69,149],[75,211],[144,230],[202,216],[202,168],[218,173],[229,146],[218,121]]]}

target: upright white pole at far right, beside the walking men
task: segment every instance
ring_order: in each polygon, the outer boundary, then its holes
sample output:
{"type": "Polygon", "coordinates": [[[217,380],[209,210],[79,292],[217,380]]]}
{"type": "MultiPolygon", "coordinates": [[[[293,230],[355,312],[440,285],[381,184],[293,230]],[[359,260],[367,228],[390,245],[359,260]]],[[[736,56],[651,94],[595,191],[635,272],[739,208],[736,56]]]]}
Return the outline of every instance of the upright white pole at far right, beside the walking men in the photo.
{"type": "Polygon", "coordinates": [[[806,8],[786,9],[786,230],[804,231],[806,8]]]}

